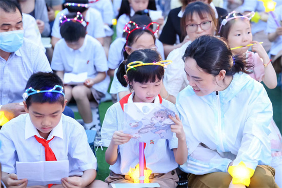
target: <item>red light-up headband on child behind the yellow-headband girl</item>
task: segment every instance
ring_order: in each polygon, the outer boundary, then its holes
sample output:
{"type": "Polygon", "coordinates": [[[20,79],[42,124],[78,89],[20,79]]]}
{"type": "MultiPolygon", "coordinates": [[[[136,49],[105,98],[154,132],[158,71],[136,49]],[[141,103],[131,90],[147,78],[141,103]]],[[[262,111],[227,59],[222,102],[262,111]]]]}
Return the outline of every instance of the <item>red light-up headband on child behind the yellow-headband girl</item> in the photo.
{"type": "Polygon", "coordinates": [[[151,31],[153,34],[155,34],[158,29],[159,29],[159,24],[156,22],[151,22],[150,24],[148,24],[147,26],[144,25],[143,27],[139,27],[135,22],[129,21],[125,27],[124,27],[124,32],[128,33],[127,37],[126,37],[126,45],[127,45],[127,39],[128,36],[130,35],[130,33],[132,33],[133,31],[135,31],[136,29],[148,29],[149,31],[151,31]],[[152,27],[152,28],[150,28],[152,27]]]}

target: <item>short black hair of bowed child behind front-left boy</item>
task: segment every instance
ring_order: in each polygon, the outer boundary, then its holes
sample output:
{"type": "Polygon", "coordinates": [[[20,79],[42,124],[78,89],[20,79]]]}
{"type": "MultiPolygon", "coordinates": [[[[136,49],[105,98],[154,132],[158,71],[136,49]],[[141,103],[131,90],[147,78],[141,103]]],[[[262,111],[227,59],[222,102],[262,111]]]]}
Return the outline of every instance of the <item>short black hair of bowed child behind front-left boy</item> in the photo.
{"type": "MultiPolygon", "coordinates": [[[[67,14],[67,18],[74,18],[76,13],[67,14]]],[[[77,21],[67,21],[61,25],[60,33],[66,42],[77,42],[80,37],[85,37],[86,27],[77,21]]]]}

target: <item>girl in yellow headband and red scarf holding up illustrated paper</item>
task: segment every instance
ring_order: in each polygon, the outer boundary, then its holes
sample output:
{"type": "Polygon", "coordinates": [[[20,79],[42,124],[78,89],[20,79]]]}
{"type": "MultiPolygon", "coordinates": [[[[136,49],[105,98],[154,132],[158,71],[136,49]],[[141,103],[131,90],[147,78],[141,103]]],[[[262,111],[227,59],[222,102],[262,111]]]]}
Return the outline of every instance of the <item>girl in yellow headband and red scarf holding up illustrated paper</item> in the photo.
{"type": "MultiPolygon", "coordinates": [[[[139,142],[132,135],[123,133],[124,104],[161,103],[176,112],[175,106],[159,95],[166,64],[167,61],[162,61],[160,54],[152,49],[133,51],[120,64],[117,78],[123,86],[129,85],[134,92],[113,104],[106,112],[101,133],[103,146],[108,147],[105,158],[111,165],[111,173],[105,182],[133,183],[134,177],[129,171],[139,163],[139,142]]],[[[147,143],[144,151],[147,169],[152,171],[149,181],[159,183],[160,187],[177,186],[175,168],[183,164],[188,155],[183,125],[177,115],[176,118],[170,116],[170,119],[175,123],[171,125],[171,131],[175,133],[172,139],[147,143]]]]}

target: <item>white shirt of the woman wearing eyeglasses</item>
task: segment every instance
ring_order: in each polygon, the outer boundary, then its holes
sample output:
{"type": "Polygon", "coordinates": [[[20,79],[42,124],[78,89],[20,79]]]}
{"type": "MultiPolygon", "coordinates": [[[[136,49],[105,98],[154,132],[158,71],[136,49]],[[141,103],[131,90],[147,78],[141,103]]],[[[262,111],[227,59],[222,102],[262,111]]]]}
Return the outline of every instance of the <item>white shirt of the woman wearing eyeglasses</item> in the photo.
{"type": "Polygon", "coordinates": [[[186,73],[184,71],[184,61],[182,57],[185,53],[186,48],[191,44],[191,41],[188,41],[182,47],[172,50],[167,60],[171,60],[172,64],[167,66],[164,77],[165,88],[168,93],[175,98],[178,93],[189,85],[187,80],[186,73]]]}

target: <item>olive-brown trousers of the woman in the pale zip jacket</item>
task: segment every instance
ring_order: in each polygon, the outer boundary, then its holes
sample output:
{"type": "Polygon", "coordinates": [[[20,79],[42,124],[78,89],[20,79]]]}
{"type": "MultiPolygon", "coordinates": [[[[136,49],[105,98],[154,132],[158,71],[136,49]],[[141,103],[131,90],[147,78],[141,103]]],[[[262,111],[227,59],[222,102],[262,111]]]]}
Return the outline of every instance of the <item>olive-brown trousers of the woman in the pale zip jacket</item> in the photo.
{"type": "MultiPolygon", "coordinates": [[[[251,183],[248,187],[274,187],[278,185],[274,181],[275,170],[268,165],[259,165],[256,167],[254,175],[251,177],[251,183]]],[[[188,187],[228,187],[232,177],[229,173],[214,172],[205,175],[188,175],[188,187]]]]}

